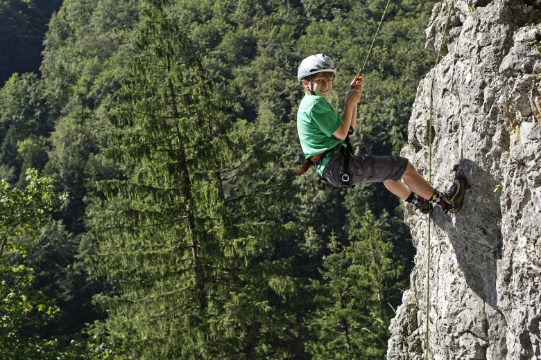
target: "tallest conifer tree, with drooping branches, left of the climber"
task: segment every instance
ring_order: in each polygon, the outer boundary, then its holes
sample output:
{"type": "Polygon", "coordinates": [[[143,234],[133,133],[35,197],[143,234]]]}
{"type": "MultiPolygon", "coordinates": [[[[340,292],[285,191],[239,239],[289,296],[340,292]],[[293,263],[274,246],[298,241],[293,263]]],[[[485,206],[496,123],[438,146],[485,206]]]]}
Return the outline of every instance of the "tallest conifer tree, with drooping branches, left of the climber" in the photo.
{"type": "Polygon", "coordinates": [[[291,357],[296,319],[278,305],[295,284],[272,256],[280,229],[265,219],[272,192],[257,191],[256,130],[227,116],[169,1],[141,9],[106,151],[121,172],[89,212],[93,267],[111,287],[96,333],[119,357],[291,357]]]}

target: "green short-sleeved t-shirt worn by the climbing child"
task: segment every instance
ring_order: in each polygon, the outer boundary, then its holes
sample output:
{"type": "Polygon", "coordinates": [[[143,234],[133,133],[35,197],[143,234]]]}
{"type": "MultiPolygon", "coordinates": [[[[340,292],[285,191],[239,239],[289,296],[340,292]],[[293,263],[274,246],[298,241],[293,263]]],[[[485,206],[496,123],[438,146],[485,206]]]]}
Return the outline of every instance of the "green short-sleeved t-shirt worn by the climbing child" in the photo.
{"type": "MultiPolygon", "coordinates": [[[[333,148],[338,152],[340,149],[338,145],[345,146],[345,141],[332,136],[340,125],[342,125],[340,114],[325,98],[316,95],[304,96],[297,111],[297,132],[304,159],[310,159],[333,148]]],[[[331,155],[326,154],[320,166],[316,168],[318,174],[323,174],[331,155]]]]}

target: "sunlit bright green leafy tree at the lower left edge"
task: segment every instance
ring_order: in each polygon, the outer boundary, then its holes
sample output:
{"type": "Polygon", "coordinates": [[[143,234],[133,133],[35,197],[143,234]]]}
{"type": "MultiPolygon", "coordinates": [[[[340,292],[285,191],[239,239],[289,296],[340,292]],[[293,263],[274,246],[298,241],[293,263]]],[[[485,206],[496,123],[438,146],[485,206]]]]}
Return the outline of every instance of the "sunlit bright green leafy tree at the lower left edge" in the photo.
{"type": "Polygon", "coordinates": [[[25,188],[0,180],[0,353],[6,359],[53,359],[54,340],[41,339],[37,331],[51,321],[58,307],[42,291],[33,289],[33,269],[13,259],[25,257],[47,213],[58,202],[51,179],[26,172],[25,188]]]}

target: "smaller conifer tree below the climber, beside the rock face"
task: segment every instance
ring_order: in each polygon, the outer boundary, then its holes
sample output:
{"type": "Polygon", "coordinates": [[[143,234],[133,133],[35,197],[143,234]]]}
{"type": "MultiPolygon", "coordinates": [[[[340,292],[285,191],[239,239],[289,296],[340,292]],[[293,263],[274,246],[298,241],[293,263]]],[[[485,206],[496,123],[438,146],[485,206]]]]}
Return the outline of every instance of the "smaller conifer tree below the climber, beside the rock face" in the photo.
{"type": "Polygon", "coordinates": [[[350,214],[350,244],[323,262],[320,309],[309,321],[313,338],[307,348],[314,359],[384,359],[388,305],[402,264],[392,258],[386,219],[366,208],[350,214]]]}

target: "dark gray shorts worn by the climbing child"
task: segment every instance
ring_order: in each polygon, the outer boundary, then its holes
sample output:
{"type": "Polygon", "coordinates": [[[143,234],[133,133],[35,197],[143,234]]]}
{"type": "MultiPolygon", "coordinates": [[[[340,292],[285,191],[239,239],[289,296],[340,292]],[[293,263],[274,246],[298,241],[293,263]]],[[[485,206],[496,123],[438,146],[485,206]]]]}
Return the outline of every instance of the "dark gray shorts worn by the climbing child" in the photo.
{"type": "MultiPolygon", "coordinates": [[[[323,179],[332,186],[342,186],[341,174],[344,165],[343,152],[331,156],[323,169],[323,179]]],[[[389,156],[356,156],[350,157],[350,183],[374,183],[385,180],[398,181],[408,166],[408,159],[389,156]]]]}

